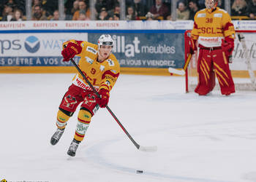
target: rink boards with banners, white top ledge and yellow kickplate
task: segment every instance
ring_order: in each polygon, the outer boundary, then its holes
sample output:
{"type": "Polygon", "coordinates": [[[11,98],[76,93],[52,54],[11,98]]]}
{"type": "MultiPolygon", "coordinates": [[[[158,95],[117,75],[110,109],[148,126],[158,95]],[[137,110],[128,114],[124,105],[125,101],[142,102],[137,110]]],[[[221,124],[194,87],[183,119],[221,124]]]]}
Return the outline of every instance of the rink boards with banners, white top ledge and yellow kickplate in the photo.
{"type": "MultiPolygon", "coordinates": [[[[121,73],[170,75],[167,68],[184,66],[184,32],[192,27],[192,21],[72,23],[0,23],[0,73],[73,73],[72,63],[61,61],[63,42],[77,39],[97,44],[102,33],[109,33],[115,41],[113,54],[121,73]]],[[[250,35],[251,40],[256,39],[254,36],[250,35]]],[[[249,42],[253,68],[255,47],[255,42],[249,42]]],[[[230,65],[236,76],[248,75],[243,56],[236,41],[230,65]]],[[[75,60],[78,63],[79,58],[75,60]]]]}

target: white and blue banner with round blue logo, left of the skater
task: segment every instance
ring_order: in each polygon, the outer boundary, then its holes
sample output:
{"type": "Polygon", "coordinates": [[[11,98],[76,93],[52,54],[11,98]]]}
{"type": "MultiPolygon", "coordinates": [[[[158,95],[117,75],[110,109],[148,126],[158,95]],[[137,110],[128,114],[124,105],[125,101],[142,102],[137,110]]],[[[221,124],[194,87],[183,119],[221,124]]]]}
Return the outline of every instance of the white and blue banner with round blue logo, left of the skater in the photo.
{"type": "MultiPolygon", "coordinates": [[[[71,66],[61,61],[64,41],[87,33],[0,33],[0,66],[71,66]]],[[[76,58],[78,60],[78,58],[76,58]]]]}

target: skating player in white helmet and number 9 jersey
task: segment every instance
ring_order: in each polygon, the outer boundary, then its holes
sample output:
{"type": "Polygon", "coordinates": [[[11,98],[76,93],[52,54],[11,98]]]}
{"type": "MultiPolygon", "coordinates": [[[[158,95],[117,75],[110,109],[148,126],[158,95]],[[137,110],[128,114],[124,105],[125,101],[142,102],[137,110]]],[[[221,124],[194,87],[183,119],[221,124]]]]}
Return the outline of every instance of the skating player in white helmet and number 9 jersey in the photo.
{"type": "Polygon", "coordinates": [[[75,55],[80,57],[79,68],[86,78],[97,90],[100,98],[95,95],[91,87],[86,83],[80,73],[76,74],[72,80],[72,85],[65,93],[57,114],[57,130],[50,139],[52,145],[56,145],[67,121],[72,116],[80,103],[78,113],[78,124],[76,126],[74,138],[69,146],[67,154],[74,157],[78,145],[86,134],[86,130],[99,107],[104,108],[108,104],[110,90],[113,88],[120,73],[120,66],[116,57],[112,54],[113,39],[110,35],[99,37],[98,45],[88,41],[70,40],[64,42],[63,61],[69,61],[75,55]]]}

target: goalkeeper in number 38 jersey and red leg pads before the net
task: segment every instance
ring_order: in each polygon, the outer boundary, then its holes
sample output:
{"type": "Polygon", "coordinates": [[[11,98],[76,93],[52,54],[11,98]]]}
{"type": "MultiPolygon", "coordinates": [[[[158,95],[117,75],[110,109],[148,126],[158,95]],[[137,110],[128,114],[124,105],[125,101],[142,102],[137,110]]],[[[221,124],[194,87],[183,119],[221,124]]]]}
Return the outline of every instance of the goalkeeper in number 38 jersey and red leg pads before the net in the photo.
{"type": "Polygon", "coordinates": [[[197,60],[199,82],[195,92],[206,95],[214,89],[217,76],[222,95],[235,92],[228,63],[234,49],[235,30],[230,15],[217,7],[217,0],[206,0],[206,9],[195,15],[189,50],[200,48],[197,60]]]}

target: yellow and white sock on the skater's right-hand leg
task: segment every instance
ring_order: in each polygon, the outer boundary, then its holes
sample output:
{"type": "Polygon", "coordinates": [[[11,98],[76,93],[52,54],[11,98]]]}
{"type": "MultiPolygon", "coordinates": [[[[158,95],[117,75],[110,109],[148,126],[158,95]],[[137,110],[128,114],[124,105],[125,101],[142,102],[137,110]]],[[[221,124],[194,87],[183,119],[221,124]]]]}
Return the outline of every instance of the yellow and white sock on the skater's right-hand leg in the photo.
{"type": "Polygon", "coordinates": [[[75,140],[83,141],[86,130],[91,122],[91,113],[89,111],[81,109],[78,113],[78,124],[75,130],[75,140]]]}

